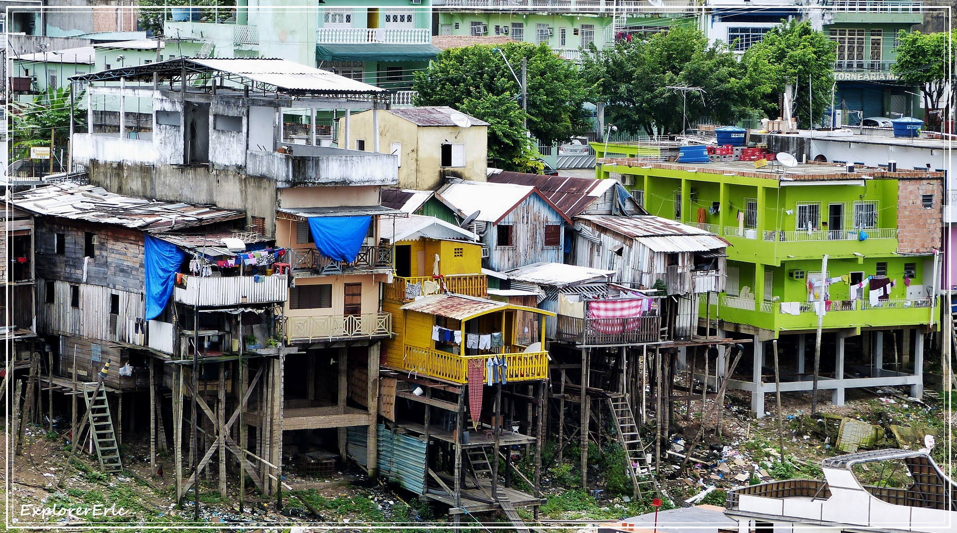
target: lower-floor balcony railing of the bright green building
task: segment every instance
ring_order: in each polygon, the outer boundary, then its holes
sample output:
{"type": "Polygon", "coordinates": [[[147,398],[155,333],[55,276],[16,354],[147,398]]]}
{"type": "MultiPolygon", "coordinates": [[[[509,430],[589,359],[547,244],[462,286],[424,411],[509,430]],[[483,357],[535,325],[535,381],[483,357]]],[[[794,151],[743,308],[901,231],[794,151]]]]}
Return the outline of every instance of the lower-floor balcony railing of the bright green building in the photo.
{"type": "MultiPolygon", "coordinates": [[[[755,301],[728,296],[711,296],[711,309],[705,308],[701,296],[700,316],[717,317],[724,322],[746,324],[763,330],[799,332],[817,328],[816,302],[755,301]]],[[[938,302],[932,298],[896,298],[879,300],[834,300],[825,303],[822,327],[826,330],[847,328],[898,327],[914,324],[938,324],[938,302]]]]}

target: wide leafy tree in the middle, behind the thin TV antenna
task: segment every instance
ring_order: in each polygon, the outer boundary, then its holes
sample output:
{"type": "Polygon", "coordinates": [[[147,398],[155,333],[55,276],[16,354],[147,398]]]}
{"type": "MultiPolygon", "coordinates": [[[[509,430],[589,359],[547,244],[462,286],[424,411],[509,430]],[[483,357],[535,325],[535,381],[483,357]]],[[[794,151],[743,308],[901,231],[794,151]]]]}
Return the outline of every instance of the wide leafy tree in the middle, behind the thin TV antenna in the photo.
{"type": "Polygon", "coordinates": [[[599,52],[592,44],[582,70],[604,100],[609,121],[633,133],[681,131],[682,111],[689,123],[699,117],[734,123],[751,115],[757,104],[746,68],[730,48],[709,45],[700,30],[685,26],[619,41],[611,50],[599,52]],[[703,92],[688,92],[685,101],[669,86],[703,92]]]}

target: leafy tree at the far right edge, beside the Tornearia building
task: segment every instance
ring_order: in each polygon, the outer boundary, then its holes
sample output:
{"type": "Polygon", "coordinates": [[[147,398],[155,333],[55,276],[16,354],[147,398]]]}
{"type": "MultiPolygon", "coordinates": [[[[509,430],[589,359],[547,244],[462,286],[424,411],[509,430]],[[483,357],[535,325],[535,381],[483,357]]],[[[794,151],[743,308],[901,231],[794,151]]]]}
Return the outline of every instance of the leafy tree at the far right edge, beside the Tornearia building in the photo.
{"type": "MultiPolygon", "coordinates": [[[[900,76],[901,81],[921,86],[924,107],[941,109],[944,115],[949,115],[954,104],[952,92],[947,99],[947,65],[954,64],[957,59],[953,50],[947,54],[947,36],[946,32],[908,34],[901,30],[897,61],[891,65],[891,72],[900,76]]],[[[950,36],[957,37],[957,30],[953,30],[950,36]]],[[[935,122],[941,118],[939,114],[933,117],[935,122]]]]}

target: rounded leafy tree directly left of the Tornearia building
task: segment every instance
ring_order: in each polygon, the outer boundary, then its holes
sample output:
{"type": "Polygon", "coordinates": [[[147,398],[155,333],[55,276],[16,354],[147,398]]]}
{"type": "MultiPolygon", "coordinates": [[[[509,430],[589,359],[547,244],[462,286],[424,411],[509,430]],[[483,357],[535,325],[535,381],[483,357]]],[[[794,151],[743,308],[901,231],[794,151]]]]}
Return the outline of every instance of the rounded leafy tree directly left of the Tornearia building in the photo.
{"type": "Polygon", "coordinates": [[[793,84],[794,114],[798,124],[807,127],[809,111],[811,118],[821,117],[831,104],[836,47],[827,35],[815,32],[810,22],[792,20],[776,26],[745,52],[746,85],[760,98],[768,117],[777,118],[781,115],[778,95],[785,85],[793,84]]]}

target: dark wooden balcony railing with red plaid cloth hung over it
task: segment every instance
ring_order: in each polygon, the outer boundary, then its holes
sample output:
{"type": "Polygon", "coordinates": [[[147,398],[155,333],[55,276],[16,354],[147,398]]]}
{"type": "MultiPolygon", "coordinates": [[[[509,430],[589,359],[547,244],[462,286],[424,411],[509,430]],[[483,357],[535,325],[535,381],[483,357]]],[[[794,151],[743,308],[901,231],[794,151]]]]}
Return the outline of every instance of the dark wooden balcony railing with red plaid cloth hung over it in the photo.
{"type": "Polygon", "coordinates": [[[580,318],[559,314],[556,336],[587,346],[657,342],[661,339],[661,316],[580,318]]]}

